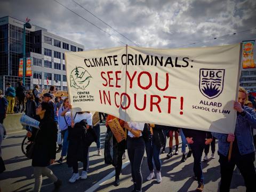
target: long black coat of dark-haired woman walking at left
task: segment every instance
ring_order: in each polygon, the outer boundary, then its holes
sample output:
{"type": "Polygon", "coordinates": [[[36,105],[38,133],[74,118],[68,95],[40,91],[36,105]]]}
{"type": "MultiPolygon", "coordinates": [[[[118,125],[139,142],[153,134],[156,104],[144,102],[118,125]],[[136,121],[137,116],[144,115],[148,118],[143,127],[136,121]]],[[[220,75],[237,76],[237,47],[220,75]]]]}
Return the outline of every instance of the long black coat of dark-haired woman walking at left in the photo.
{"type": "Polygon", "coordinates": [[[33,129],[32,138],[35,138],[35,147],[32,157],[32,166],[45,167],[50,165],[50,159],[56,158],[57,125],[50,119],[41,119],[40,130],[33,129]]]}

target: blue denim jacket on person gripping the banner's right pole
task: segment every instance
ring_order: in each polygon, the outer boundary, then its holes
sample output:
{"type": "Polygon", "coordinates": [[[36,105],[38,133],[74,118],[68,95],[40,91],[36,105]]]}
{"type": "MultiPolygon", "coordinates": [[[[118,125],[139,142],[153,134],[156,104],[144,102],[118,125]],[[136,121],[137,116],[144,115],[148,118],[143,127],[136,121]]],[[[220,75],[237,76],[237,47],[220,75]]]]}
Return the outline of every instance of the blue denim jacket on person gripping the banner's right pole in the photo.
{"type": "MultiPolygon", "coordinates": [[[[241,155],[246,155],[254,152],[252,129],[256,129],[256,113],[250,108],[244,106],[245,115],[237,115],[235,137],[237,146],[241,155]]],[[[224,156],[228,155],[230,143],[227,142],[227,135],[223,133],[212,133],[219,140],[218,152],[224,156]]]]}

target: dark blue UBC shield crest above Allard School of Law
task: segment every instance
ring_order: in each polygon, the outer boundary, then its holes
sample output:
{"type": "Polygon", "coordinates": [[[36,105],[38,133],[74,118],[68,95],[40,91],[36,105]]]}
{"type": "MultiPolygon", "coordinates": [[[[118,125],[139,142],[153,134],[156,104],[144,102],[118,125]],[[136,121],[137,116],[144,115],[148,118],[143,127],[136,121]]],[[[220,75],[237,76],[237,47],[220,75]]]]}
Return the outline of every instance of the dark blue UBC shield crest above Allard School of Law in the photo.
{"type": "Polygon", "coordinates": [[[217,98],[223,90],[225,69],[200,69],[199,89],[209,98],[217,98]]]}

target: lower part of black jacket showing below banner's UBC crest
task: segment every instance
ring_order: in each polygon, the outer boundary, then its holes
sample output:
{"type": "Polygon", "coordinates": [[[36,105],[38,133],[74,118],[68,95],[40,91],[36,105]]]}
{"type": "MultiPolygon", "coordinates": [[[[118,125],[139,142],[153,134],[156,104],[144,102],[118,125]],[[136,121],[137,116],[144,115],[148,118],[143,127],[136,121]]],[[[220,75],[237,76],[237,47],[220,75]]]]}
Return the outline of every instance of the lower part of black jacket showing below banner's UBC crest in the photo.
{"type": "Polygon", "coordinates": [[[182,128],[182,131],[185,135],[185,137],[193,138],[194,142],[204,144],[205,139],[212,139],[211,132],[208,131],[201,131],[201,130],[191,130],[191,129],[184,129],[182,128]]]}

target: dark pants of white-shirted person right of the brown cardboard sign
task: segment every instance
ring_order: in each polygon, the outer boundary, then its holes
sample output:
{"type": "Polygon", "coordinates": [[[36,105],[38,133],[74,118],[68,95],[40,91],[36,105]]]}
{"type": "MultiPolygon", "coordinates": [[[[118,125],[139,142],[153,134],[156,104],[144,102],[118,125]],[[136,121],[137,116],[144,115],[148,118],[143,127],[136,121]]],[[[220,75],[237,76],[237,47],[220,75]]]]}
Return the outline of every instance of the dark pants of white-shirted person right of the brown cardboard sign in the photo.
{"type": "Polygon", "coordinates": [[[132,179],[135,183],[136,191],[141,191],[142,175],[141,164],[145,153],[145,141],[142,137],[130,138],[127,140],[127,153],[131,163],[132,179]]]}

